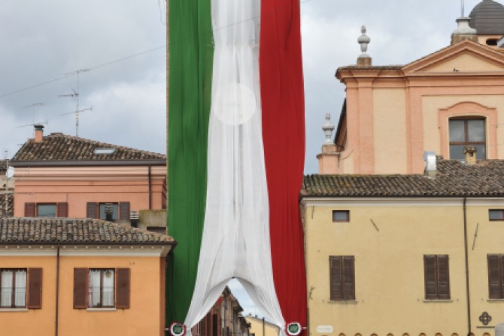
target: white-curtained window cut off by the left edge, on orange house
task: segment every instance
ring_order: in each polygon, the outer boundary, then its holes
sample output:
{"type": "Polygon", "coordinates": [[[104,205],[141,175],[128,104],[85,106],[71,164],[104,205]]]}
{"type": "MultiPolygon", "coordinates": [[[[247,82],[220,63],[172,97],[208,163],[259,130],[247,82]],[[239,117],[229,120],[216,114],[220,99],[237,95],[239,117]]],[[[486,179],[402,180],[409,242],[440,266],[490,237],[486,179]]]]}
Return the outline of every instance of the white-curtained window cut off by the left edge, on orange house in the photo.
{"type": "Polygon", "coordinates": [[[0,269],[0,307],[26,307],[27,269],[0,269]]]}

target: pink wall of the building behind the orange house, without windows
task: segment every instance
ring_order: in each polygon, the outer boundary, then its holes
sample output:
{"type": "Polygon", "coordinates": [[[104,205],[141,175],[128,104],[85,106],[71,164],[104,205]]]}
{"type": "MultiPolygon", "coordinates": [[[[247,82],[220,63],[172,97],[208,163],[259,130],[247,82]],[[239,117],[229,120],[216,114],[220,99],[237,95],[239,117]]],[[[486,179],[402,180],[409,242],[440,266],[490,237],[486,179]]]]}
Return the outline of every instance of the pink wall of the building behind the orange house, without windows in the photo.
{"type": "MultiPolygon", "coordinates": [[[[166,206],[166,167],[151,167],[151,207],[166,206]]],[[[130,202],[130,211],[149,209],[148,167],[16,167],[14,216],[25,203],[68,202],[68,216],[86,217],[87,202],[130,202]]]]}

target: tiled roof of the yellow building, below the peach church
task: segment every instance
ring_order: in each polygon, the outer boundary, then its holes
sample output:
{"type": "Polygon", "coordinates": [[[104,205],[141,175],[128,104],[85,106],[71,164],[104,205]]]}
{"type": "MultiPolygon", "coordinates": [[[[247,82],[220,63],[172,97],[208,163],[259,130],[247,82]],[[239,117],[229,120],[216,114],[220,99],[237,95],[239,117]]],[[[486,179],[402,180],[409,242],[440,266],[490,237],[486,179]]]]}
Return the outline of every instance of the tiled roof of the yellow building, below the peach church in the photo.
{"type": "Polygon", "coordinates": [[[438,174],[308,175],[301,197],[503,197],[504,160],[437,162],[438,174]]]}

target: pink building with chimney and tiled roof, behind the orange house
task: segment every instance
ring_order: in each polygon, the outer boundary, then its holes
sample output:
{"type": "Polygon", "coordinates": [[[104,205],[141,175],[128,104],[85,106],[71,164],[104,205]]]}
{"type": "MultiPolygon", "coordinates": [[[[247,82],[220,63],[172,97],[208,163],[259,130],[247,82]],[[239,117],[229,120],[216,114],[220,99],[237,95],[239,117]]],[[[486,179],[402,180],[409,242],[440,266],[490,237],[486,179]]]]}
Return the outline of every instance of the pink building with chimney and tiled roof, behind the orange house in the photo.
{"type": "Polygon", "coordinates": [[[15,154],[15,217],[94,218],[129,222],[166,208],[166,156],[36,125],[15,154]],[[154,211],[155,212],[155,211],[154,211]]]}

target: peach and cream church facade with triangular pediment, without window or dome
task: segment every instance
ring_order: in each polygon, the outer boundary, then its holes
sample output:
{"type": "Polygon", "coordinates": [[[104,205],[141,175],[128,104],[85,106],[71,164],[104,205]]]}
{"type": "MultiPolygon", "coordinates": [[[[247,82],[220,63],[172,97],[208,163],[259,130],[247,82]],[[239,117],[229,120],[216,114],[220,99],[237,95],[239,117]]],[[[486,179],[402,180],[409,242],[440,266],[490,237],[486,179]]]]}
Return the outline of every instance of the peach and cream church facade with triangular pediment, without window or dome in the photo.
{"type": "Polygon", "coordinates": [[[489,48],[465,41],[402,68],[337,76],[346,85],[348,141],[334,173],[422,173],[425,151],[449,158],[452,116],[486,118],[486,158],[504,159],[504,57],[489,48]],[[456,104],[478,107],[450,113],[456,104]]]}

